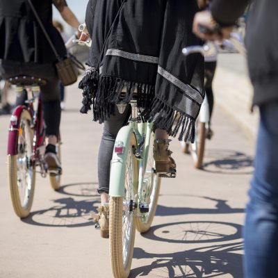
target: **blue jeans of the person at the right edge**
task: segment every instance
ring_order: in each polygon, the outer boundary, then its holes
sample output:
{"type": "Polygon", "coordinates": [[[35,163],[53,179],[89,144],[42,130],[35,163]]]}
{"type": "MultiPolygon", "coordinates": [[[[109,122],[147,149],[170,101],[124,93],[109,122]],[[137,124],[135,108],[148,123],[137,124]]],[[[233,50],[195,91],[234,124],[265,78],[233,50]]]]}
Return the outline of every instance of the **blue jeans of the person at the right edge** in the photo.
{"type": "Polygon", "coordinates": [[[278,101],[260,108],[244,228],[245,278],[278,277],[278,101]]]}

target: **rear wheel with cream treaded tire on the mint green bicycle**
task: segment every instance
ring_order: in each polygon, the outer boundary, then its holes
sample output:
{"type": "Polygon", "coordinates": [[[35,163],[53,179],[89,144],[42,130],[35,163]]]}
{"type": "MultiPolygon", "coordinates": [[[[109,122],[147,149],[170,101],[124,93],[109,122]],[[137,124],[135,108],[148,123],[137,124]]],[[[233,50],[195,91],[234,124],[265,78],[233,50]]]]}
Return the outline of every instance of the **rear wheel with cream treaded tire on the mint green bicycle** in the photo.
{"type": "Polygon", "coordinates": [[[125,167],[125,196],[111,197],[109,202],[109,244],[113,275],[115,278],[127,278],[131,269],[133,246],[136,232],[135,215],[133,211],[124,209],[124,202],[129,202],[136,195],[136,177],[138,174],[133,147],[136,138],[131,134],[126,144],[128,154],[125,167]],[[126,230],[125,230],[126,228],[126,230]]]}

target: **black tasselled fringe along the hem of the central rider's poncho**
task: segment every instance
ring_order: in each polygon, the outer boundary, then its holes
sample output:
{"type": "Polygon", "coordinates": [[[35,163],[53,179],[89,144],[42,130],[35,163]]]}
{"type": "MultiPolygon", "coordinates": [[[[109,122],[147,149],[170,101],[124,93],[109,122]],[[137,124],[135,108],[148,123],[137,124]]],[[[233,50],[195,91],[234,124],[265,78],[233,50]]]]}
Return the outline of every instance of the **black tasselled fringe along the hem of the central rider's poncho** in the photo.
{"type": "Polygon", "coordinates": [[[195,119],[155,97],[155,85],[126,81],[114,76],[99,76],[95,68],[89,67],[79,88],[83,90],[80,112],[88,113],[92,109],[95,122],[102,123],[115,115],[115,104],[119,101],[128,104],[136,92],[138,107],[144,109],[141,113],[144,121],[154,122],[154,129],[164,129],[172,137],[179,133],[179,140],[195,140],[195,119]],[[124,88],[126,92],[122,92],[124,88]]]}

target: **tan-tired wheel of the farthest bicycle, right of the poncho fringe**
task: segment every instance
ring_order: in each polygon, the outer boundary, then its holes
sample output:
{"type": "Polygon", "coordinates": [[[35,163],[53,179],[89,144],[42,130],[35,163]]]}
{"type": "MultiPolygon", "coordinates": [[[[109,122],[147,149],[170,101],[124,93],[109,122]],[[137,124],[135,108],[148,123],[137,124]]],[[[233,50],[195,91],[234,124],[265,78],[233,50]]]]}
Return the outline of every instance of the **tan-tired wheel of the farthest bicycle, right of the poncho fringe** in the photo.
{"type": "Polygon", "coordinates": [[[194,166],[196,169],[201,169],[204,159],[204,147],[206,142],[206,123],[199,122],[198,129],[196,131],[194,148],[191,146],[191,152],[193,156],[194,166]]]}

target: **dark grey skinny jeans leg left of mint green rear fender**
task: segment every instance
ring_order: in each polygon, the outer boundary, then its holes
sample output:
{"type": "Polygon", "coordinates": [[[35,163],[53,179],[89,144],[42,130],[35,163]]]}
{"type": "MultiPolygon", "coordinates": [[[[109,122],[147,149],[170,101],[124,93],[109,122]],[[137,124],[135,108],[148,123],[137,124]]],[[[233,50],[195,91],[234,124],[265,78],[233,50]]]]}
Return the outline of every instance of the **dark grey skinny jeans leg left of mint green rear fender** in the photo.
{"type": "Polygon", "coordinates": [[[101,137],[98,156],[98,193],[109,193],[110,163],[113,155],[113,147],[117,133],[122,126],[127,124],[130,113],[130,106],[126,106],[123,114],[120,114],[117,107],[115,107],[115,115],[109,117],[104,122],[104,132],[101,137]]]}

